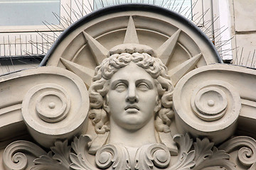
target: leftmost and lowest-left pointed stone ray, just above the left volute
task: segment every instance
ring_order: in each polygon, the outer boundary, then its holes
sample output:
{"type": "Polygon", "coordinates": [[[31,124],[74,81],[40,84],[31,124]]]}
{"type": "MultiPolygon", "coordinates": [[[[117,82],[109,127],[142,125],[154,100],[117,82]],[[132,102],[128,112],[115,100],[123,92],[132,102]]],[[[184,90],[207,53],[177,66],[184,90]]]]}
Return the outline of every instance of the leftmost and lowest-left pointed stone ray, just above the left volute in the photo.
{"type": "Polygon", "coordinates": [[[83,67],[80,64],[76,64],[75,62],[70,62],[69,60],[65,60],[60,57],[60,62],[62,62],[65,67],[68,68],[71,72],[75,73],[84,81],[87,87],[90,86],[92,77],[94,76],[94,70],[89,69],[87,67],[83,67]]]}

